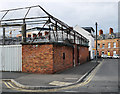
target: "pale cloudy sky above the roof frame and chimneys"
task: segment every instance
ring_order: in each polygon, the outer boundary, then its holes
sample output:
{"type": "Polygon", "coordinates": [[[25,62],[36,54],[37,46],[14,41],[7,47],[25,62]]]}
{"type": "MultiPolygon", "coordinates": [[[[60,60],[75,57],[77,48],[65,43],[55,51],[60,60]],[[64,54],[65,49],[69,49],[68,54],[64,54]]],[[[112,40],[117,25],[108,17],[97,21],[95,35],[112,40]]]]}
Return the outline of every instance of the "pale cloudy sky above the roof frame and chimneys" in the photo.
{"type": "Polygon", "coordinates": [[[69,26],[118,32],[118,0],[0,0],[0,10],[40,5],[69,26]]]}

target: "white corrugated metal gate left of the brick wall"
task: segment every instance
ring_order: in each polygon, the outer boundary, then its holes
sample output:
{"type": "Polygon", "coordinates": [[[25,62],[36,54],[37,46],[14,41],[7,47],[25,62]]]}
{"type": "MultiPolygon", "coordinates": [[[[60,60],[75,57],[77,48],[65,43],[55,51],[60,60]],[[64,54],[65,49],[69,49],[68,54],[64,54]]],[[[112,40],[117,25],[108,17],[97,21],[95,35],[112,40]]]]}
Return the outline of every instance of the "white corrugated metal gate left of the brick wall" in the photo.
{"type": "Polygon", "coordinates": [[[0,46],[0,71],[22,71],[22,46],[0,46]]]}

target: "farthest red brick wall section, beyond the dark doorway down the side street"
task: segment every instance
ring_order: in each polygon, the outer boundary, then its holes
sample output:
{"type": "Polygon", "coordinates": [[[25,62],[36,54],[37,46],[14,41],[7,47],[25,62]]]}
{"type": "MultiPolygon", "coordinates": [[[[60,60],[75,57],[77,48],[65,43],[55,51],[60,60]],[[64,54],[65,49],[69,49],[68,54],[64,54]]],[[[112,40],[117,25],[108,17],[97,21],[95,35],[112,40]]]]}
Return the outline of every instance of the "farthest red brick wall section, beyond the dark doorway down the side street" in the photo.
{"type": "Polygon", "coordinates": [[[80,64],[86,62],[89,58],[89,51],[87,47],[80,46],[79,48],[79,60],[80,64]]]}

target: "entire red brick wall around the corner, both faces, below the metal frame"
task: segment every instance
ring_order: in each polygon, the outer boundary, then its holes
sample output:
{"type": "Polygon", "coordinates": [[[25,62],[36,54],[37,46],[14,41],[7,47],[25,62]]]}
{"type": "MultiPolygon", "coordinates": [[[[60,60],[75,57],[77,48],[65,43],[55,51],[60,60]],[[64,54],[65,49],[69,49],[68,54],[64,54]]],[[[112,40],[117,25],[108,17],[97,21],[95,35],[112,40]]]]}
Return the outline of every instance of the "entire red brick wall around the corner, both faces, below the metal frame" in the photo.
{"type": "Polygon", "coordinates": [[[73,67],[73,57],[76,65],[87,61],[88,47],[64,44],[23,44],[22,71],[29,73],[49,74],[73,67]],[[74,54],[73,54],[74,51],[74,54]],[[79,59],[79,61],[78,61],[79,59]]]}

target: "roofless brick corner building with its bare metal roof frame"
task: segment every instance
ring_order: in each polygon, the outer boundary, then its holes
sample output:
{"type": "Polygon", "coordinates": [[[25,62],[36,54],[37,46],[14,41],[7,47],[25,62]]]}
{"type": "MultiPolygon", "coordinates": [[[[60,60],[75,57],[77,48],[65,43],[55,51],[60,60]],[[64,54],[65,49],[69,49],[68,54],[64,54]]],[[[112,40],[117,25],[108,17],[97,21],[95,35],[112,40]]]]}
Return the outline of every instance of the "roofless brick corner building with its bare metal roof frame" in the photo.
{"type": "Polygon", "coordinates": [[[39,5],[7,10],[0,21],[3,44],[5,27],[21,28],[17,37],[22,39],[22,72],[55,73],[88,61],[88,39],[39,5]],[[7,19],[15,10],[21,15],[7,19]]]}

